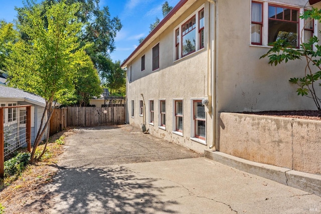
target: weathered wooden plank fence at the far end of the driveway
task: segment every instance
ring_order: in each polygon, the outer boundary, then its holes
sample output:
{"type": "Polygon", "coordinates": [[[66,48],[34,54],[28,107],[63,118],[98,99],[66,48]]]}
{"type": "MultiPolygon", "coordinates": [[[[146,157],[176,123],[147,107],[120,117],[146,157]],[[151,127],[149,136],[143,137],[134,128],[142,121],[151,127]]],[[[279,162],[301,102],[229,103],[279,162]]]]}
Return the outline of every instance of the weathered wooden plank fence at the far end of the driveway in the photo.
{"type": "Polygon", "coordinates": [[[125,106],[64,107],[55,109],[50,119],[50,135],[68,126],[93,127],[125,123],[125,106]]]}

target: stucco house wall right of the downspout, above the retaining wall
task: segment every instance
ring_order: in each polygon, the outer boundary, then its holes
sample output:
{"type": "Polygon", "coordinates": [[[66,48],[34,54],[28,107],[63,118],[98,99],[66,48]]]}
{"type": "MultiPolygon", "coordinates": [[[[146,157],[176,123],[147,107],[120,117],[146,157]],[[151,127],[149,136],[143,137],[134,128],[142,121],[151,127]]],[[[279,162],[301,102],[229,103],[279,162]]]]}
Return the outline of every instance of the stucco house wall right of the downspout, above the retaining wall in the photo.
{"type": "MultiPolygon", "coordinates": [[[[268,2],[292,7],[304,7],[307,3],[306,0],[268,2]]],[[[302,77],[304,59],[271,66],[268,58],[259,59],[269,47],[250,45],[251,1],[218,1],[217,6],[218,112],[316,110],[312,99],[297,96],[297,87],[288,81],[302,77]]]]}

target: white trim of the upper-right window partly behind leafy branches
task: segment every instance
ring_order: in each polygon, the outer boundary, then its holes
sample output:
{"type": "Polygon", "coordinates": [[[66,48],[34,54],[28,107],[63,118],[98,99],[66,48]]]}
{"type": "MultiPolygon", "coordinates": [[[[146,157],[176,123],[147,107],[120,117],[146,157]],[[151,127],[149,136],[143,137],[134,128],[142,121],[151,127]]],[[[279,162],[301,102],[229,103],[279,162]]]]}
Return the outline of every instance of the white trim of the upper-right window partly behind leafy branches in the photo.
{"type": "MultiPolygon", "coordinates": [[[[263,3],[263,26],[262,26],[262,45],[252,45],[252,2],[250,3],[250,25],[249,25],[249,29],[250,29],[250,46],[253,47],[264,47],[264,48],[271,48],[271,46],[268,46],[268,5],[269,4],[273,4],[273,5],[279,5],[279,6],[284,6],[284,7],[291,7],[291,8],[297,8],[299,9],[299,16],[304,12],[304,10],[309,10],[311,9],[310,7],[306,7],[306,8],[301,8],[300,6],[297,5],[292,5],[292,4],[284,4],[284,3],[280,3],[280,2],[266,2],[266,1],[256,1],[254,0],[254,2],[261,2],[263,3]]],[[[313,35],[317,35],[318,31],[317,31],[317,23],[314,21],[314,32],[313,35]]],[[[301,45],[301,37],[302,37],[302,41],[304,41],[304,34],[301,34],[302,30],[304,28],[304,19],[300,19],[299,18],[299,45],[301,45]]],[[[176,28],[177,29],[177,28],[176,28]]]]}

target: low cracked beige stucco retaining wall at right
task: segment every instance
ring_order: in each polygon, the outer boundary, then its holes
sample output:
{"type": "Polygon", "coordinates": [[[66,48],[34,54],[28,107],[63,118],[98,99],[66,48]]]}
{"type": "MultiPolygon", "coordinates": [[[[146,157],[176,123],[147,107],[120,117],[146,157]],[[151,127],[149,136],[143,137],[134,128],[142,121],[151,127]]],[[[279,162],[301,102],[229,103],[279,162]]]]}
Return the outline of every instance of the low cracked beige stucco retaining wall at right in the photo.
{"type": "Polygon", "coordinates": [[[321,174],[321,121],[225,112],[219,117],[221,152],[321,174]]]}

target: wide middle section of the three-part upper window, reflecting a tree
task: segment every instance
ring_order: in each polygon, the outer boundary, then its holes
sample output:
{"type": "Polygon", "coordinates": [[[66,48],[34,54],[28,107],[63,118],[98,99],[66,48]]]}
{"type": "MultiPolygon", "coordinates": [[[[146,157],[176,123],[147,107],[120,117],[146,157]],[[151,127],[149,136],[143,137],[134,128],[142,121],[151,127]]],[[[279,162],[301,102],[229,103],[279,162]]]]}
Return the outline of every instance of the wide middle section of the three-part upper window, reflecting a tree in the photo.
{"type": "Polygon", "coordinates": [[[182,57],[196,51],[196,16],[182,25],[182,57]]]}

